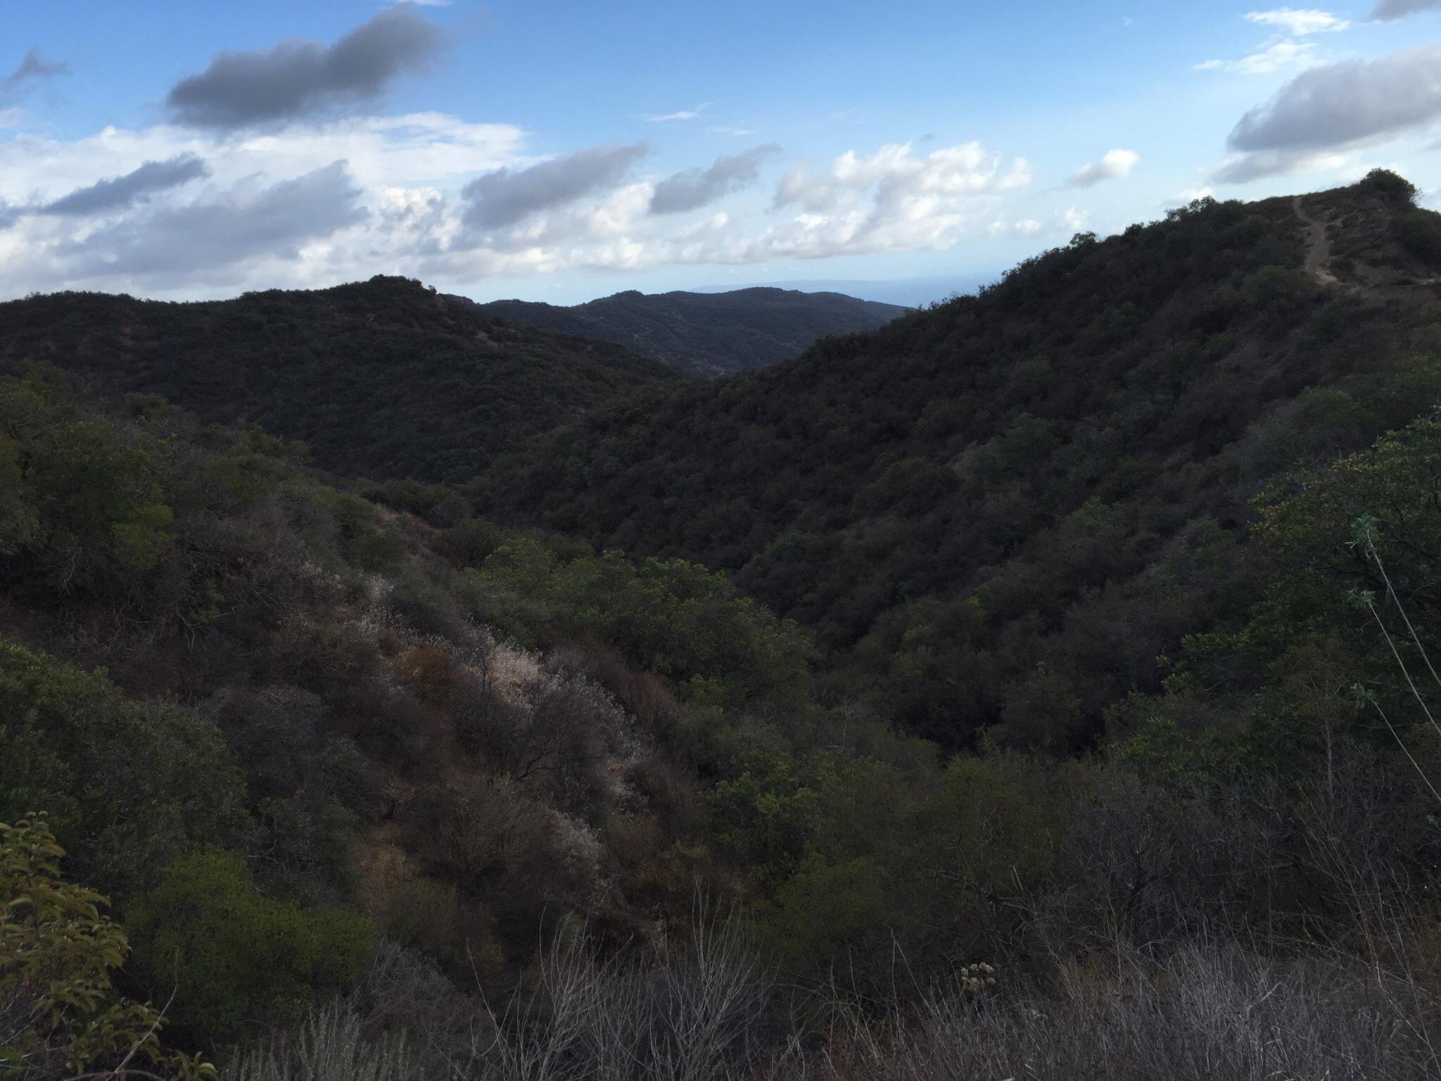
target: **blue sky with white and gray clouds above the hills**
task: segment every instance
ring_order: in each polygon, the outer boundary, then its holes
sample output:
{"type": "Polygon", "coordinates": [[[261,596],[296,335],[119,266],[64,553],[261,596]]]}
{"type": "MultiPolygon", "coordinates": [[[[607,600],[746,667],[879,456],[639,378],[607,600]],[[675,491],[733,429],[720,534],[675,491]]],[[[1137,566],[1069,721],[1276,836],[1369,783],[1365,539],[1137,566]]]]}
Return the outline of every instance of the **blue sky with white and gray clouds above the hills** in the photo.
{"type": "Polygon", "coordinates": [[[984,281],[1190,199],[1441,206],[1441,0],[0,0],[0,297],[984,281]]]}

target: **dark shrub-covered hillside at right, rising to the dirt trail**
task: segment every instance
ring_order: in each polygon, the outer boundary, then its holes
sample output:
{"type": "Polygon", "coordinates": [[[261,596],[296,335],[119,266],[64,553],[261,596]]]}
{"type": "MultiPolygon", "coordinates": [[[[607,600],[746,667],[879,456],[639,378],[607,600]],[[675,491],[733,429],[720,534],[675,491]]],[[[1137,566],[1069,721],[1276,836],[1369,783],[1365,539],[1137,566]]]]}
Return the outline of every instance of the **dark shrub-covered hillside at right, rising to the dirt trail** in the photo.
{"type": "Polygon", "coordinates": [[[918,731],[1079,742],[1183,630],[1252,600],[1267,479],[1437,401],[1435,215],[1408,187],[1078,236],[980,297],[586,417],[476,494],[729,569],[918,731]]]}

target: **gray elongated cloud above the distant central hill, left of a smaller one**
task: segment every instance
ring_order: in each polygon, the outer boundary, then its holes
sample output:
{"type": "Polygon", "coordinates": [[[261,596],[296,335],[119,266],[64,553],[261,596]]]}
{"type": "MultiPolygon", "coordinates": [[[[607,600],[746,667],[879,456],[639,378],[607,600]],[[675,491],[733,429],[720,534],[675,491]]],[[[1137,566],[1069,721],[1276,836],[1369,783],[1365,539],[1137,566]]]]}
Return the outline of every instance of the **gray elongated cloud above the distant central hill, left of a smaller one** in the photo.
{"type": "Polygon", "coordinates": [[[526,215],[572,203],[591,192],[614,187],[646,156],[644,143],[607,143],[576,150],[529,169],[497,169],[461,190],[465,223],[483,229],[514,225],[526,215]]]}

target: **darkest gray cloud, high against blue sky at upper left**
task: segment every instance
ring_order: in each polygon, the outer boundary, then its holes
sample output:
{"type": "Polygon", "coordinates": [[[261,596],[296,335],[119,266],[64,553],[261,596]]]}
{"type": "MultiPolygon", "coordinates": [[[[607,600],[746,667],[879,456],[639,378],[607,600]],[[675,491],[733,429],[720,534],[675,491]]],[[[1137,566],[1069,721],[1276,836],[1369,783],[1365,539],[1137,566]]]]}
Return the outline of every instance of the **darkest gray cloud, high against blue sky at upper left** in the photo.
{"type": "Polygon", "coordinates": [[[193,127],[242,128],[369,101],[396,78],[422,69],[440,32],[411,4],[376,14],[334,45],[290,40],[256,52],[222,52],[166,97],[193,127]]]}

